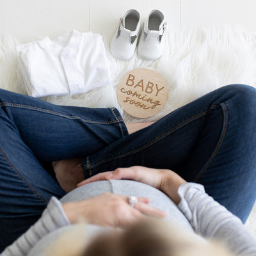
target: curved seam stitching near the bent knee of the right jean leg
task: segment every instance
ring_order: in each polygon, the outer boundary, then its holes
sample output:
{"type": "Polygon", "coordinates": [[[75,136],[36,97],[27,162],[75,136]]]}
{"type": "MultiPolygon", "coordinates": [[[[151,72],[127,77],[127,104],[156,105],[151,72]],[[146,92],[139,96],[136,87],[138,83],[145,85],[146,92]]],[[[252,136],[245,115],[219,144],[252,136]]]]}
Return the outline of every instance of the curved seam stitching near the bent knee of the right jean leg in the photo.
{"type": "Polygon", "coordinates": [[[218,141],[218,144],[216,146],[216,148],[214,149],[214,152],[212,152],[211,157],[209,158],[209,160],[207,161],[207,163],[205,163],[204,167],[202,168],[202,170],[198,173],[198,175],[195,177],[195,179],[193,180],[193,182],[197,182],[200,177],[202,177],[202,175],[205,173],[205,171],[207,170],[207,168],[209,168],[210,164],[212,163],[213,159],[216,157],[216,155],[218,154],[218,152],[220,151],[221,145],[223,144],[223,141],[225,139],[225,136],[227,134],[227,127],[228,127],[228,111],[227,111],[227,107],[225,106],[224,103],[220,104],[222,106],[223,109],[223,113],[224,113],[224,125],[223,125],[223,129],[221,132],[221,136],[220,136],[220,140],[218,141]]]}

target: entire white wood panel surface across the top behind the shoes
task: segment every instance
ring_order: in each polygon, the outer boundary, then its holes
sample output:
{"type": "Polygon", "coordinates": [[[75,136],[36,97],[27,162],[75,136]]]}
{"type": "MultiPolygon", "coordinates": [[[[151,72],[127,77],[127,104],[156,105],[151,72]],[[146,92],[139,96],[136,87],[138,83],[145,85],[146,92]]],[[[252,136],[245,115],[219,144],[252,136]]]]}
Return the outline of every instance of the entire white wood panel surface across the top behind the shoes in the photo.
{"type": "Polygon", "coordinates": [[[113,33],[129,8],[142,20],[161,10],[169,28],[241,26],[256,32],[255,0],[0,0],[0,36],[9,33],[20,42],[78,31],[113,33]]]}

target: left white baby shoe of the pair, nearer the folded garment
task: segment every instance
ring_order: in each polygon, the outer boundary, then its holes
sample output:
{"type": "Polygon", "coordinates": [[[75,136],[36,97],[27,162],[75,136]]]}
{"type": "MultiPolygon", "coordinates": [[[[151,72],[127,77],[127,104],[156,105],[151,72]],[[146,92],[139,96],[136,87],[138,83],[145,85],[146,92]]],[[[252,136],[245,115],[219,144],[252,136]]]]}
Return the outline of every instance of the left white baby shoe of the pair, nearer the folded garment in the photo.
{"type": "Polygon", "coordinates": [[[120,60],[131,59],[136,49],[139,33],[140,13],[136,10],[128,10],[120,19],[118,29],[111,40],[110,50],[113,56],[120,60]]]}

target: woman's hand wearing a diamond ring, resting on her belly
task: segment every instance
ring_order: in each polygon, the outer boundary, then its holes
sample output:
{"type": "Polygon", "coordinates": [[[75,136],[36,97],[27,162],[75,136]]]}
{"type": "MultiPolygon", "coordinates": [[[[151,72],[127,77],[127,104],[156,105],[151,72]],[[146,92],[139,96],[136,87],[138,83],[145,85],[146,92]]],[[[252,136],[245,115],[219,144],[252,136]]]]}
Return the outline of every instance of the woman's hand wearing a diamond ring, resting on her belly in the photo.
{"type": "Polygon", "coordinates": [[[134,221],[152,216],[164,218],[166,212],[149,205],[150,198],[138,197],[131,207],[128,196],[104,193],[79,202],[69,202],[62,207],[70,223],[86,220],[90,224],[104,227],[125,227],[134,221]]]}

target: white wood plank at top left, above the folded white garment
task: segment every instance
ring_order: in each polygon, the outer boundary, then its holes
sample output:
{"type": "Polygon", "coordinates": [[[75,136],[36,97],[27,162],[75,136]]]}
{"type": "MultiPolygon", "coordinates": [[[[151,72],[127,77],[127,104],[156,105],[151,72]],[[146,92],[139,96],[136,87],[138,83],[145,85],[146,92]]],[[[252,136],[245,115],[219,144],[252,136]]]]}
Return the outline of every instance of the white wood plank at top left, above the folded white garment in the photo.
{"type": "MultiPolygon", "coordinates": [[[[93,0],[91,0],[93,1],[93,0]]],[[[31,38],[90,30],[90,0],[0,0],[0,36],[31,38]]]]}

